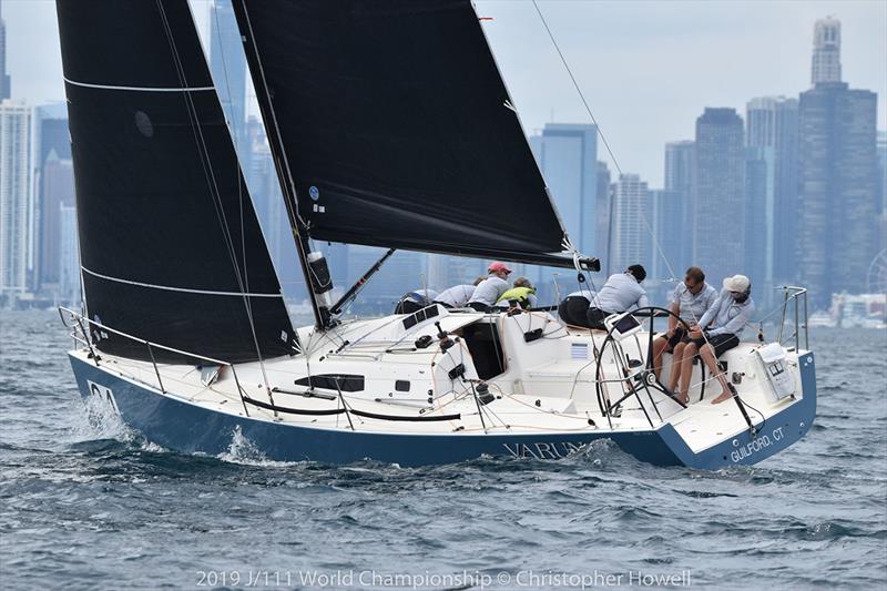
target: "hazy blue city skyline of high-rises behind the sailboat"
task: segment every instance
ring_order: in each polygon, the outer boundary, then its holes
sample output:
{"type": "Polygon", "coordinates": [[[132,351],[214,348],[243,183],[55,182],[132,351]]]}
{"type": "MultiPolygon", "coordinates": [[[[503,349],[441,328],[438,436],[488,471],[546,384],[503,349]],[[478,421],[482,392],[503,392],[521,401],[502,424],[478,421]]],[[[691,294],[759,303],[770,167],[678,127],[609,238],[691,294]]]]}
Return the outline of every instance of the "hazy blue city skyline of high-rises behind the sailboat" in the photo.
{"type": "MultiPolygon", "coordinates": [[[[292,255],[294,246],[264,128],[244,106],[245,62],[236,51],[236,26],[226,6],[223,2],[210,11],[204,50],[284,293],[297,299],[297,288],[304,282],[292,255]]],[[[744,271],[764,293],[769,293],[775,282],[794,281],[798,267],[803,278],[814,286],[815,300],[825,302],[839,286],[858,291],[865,283],[864,267],[887,243],[885,228],[880,227],[884,218],[877,217],[885,210],[880,187],[886,182],[884,173],[877,176],[876,153],[884,161],[883,149],[877,147],[880,152],[876,152],[877,95],[868,90],[848,90],[843,82],[846,60],[842,58],[840,21],[824,17],[810,29],[814,34],[808,59],[797,69],[807,72],[814,88],[799,89],[793,96],[747,96],[744,110],[701,109],[691,140],[673,139],[660,147],[661,184],[630,169],[609,167],[606,145],[599,139],[595,125],[555,122],[530,133],[529,146],[573,244],[585,254],[599,256],[604,273],[642,263],[653,284],[680,278],[683,268],[692,263],[703,266],[714,282],[744,271]],[[810,102],[830,105],[832,111],[814,105],[809,114],[809,108],[805,111],[804,105],[810,102]],[[832,112],[837,115],[828,114],[832,112]],[[799,119],[806,126],[799,124],[799,119]],[[843,121],[850,121],[847,131],[843,121]],[[843,133],[848,134],[847,139],[843,133]],[[850,152],[849,157],[829,155],[839,145],[833,147],[827,137],[839,137],[839,144],[850,152]],[[799,154],[806,154],[806,169],[798,166],[799,154]],[[825,192],[818,186],[812,197],[809,190],[798,195],[798,170],[813,170],[817,182],[817,175],[823,174],[836,180],[827,181],[825,192]],[[801,207],[805,196],[807,206],[801,207]],[[823,205],[833,198],[837,203],[823,205]],[[849,214],[845,212],[845,201],[854,204],[849,214]],[[878,222],[873,223],[873,217],[878,222]],[[826,221],[838,218],[853,226],[853,232],[843,243],[823,251],[820,235],[832,232],[825,231],[826,221]],[[723,227],[725,220],[730,221],[727,232],[723,227]],[[682,225],[681,232],[673,231],[682,225]],[[824,268],[842,264],[849,271],[839,269],[840,281],[823,279],[824,268]]],[[[854,89],[859,88],[856,81],[849,82],[854,89]]],[[[16,104],[4,106],[21,111],[16,104]]],[[[19,210],[26,203],[30,207],[24,212],[26,225],[12,224],[17,231],[27,227],[19,242],[33,241],[33,246],[26,248],[29,262],[24,291],[70,294],[71,277],[63,264],[75,259],[70,252],[74,217],[72,187],[65,186],[67,180],[72,183],[72,172],[64,105],[26,106],[31,108],[34,128],[24,143],[30,154],[26,161],[32,159],[26,164],[33,171],[27,180],[32,186],[26,191],[24,200],[12,197],[19,210]]],[[[804,181],[803,175],[801,180],[804,181]]],[[[346,288],[380,254],[374,248],[324,243],[315,247],[329,259],[339,288],[346,288]]],[[[7,258],[8,263],[12,261],[7,258]]],[[[6,267],[11,268],[10,264],[6,267]]],[[[419,285],[442,287],[439,282],[445,279],[469,283],[482,269],[480,261],[455,264],[446,257],[398,253],[379,276],[386,277],[385,286],[370,286],[367,295],[390,299],[398,292],[419,285]]],[[[558,274],[551,269],[517,265],[516,272],[527,274],[546,298],[555,295],[558,289],[552,289],[551,283],[558,274]]],[[[16,273],[22,276],[21,269],[16,273]]],[[[22,292],[21,287],[17,289],[22,292]]]]}

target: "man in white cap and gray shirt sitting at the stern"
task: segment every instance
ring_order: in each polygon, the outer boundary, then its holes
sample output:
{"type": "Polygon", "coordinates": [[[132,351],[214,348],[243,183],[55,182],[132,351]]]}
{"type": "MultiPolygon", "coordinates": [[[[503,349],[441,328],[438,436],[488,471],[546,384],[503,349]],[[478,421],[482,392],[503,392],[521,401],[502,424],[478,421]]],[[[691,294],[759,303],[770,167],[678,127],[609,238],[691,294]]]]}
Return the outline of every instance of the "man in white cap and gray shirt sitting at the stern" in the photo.
{"type": "Polygon", "coordinates": [[[697,325],[690,327],[689,344],[681,360],[681,391],[676,398],[687,401],[693,358],[699,354],[712,376],[721,384],[721,395],[712,400],[720,404],[728,400],[733,393],[717,358],[740,344],[740,334],[752,319],[755,303],[752,300],[752,282],[745,275],[734,275],[724,279],[724,288],[712,307],[700,318],[697,325]]]}

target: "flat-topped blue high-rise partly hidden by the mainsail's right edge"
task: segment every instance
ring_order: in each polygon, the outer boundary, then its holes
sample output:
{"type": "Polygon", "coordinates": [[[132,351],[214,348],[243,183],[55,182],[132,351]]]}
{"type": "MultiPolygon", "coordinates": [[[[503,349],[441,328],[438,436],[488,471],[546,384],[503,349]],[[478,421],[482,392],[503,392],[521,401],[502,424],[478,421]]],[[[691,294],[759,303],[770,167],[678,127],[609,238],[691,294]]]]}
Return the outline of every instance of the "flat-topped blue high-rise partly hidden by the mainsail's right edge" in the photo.
{"type": "Polygon", "coordinates": [[[594,256],[598,128],[547,123],[541,135],[530,137],[530,146],[570,240],[594,256]]]}

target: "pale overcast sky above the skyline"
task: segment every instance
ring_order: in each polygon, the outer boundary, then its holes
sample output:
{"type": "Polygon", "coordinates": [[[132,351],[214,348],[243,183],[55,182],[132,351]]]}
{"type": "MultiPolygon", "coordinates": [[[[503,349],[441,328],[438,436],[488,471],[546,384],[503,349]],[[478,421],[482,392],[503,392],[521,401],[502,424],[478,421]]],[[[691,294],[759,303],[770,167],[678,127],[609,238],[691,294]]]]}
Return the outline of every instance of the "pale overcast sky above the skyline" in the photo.
{"type": "MultiPolygon", "coordinates": [[[[210,0],[192,0],[198,26],[210,0]]],[[[554,38],[625,173],[662,186],[664,144],[692,139],[705,106],[809,88],[813,26],[842,21],[843,78],[878,93],[887,129],[887,0],[540,0],[554,38]]],[[[479,17],[528,133],[589,123],[530,0],[477,0],[479,17]]],[[[55,4],[2,0],[12,98],[64,98],[55,4]]],[[[600,160],[610,161],[599,142],[600,160]]],[[[612,162],[611,170],[613,169],[612,162]]]]}

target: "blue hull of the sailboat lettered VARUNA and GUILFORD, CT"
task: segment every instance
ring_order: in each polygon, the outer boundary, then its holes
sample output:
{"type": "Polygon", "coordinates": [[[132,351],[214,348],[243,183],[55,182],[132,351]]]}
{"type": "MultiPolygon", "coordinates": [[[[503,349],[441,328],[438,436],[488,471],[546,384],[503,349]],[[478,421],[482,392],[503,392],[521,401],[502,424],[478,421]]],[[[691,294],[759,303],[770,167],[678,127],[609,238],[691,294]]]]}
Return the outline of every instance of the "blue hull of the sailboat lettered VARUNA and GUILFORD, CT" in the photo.
{"type": "Polygon", "coordinates": [[[149,440],[184,452],[225,452],[241,432],[265,457],[279,461],[350,463],[363,459],[400,466],[453,463],[489,456],[555,459],[595,439],[611,439],[635,458],[659,466],[716,469],[755,463],[801,439],[816,414],[813,354],[799,358],[804,398],[767,419],[756,437],[748,431],[694,454],[671,425],[656,430],[581,434],[415,435],[309,428],[216,412],[104,371],[70,357],[81,394],[88,380],[113,391],[123,420],[149,440]]]}

